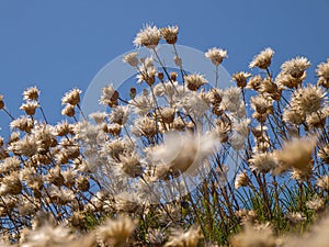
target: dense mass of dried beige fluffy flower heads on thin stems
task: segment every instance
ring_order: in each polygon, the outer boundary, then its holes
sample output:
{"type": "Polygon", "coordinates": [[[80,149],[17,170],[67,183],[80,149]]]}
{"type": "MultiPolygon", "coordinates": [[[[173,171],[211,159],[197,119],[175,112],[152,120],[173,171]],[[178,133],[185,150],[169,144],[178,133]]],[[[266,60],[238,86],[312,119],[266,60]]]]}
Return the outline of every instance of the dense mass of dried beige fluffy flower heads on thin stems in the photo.
{"type": "Polygon", "coordinates": [[[11,119],[10,137],[0,138],[3,245],[326,245],[328,220],[315,238],[286,233],[304,233],[327,211],[329,60],[307,83],[307,58],[285,61],[275,76],[266,48],[220,89],[227,50],[213,47],[212,88],[184,70],[178,31],[140,30],[134,44],[151,56],[123,60],[143,90],[125,98],[110,83],[104,112],[84,115],[75,88],[61,99],[64,120],[50,124],[36,87],[23,92],[19,117],[0,96],[11,119]],[[159,57],[161,41],[175,70],[159,57]]]}

